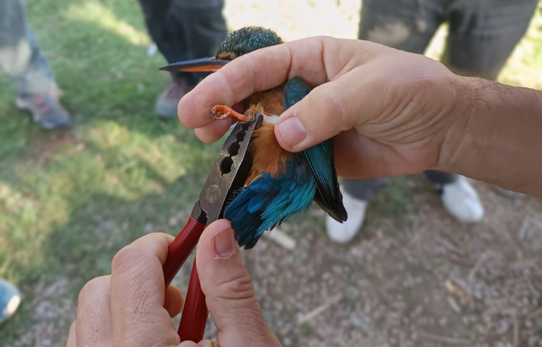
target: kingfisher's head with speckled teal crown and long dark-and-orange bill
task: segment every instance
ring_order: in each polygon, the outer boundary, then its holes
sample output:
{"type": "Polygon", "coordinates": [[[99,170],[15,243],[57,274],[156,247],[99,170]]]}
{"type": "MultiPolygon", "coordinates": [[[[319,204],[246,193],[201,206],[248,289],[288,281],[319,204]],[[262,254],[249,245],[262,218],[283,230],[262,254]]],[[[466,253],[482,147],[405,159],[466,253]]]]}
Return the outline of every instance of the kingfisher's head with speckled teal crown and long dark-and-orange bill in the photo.
{"type": "Polygon", "coordinates": [[[281,44],[282,39],[272,30],[261,27],[245,27],[231,32],[220,44],[217,54],[210,58],[171,63],[160,68],[164,71],[205,72],[217,71],[238,56],[256,49],[281,44]]]}

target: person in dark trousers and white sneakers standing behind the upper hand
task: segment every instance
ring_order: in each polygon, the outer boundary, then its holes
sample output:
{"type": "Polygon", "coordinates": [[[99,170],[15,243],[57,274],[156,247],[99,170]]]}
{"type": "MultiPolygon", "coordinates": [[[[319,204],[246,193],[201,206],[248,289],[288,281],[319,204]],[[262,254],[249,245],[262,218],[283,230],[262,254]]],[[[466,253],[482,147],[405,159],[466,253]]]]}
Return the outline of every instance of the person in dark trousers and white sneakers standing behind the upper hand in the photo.
{"type": "MultiPolygon", "coordinates": [[[[442,63],[459,75],[495,80],[522,39],[538,0],[363,0],[359,39],[423,54],[444,21],[450,31],[442,63]]],[[[425,171],[442,205],[464,222],[481,221],[478,193],[463,176],[425,171]]],[[[327,234],[336,243],[351,241],[361,229],[368,204],[389,184],[389,178],[343,181],[348,220],[327,217],[327,234]]],[[[500,190],[510,196],[519,196],[500,190]]]]}

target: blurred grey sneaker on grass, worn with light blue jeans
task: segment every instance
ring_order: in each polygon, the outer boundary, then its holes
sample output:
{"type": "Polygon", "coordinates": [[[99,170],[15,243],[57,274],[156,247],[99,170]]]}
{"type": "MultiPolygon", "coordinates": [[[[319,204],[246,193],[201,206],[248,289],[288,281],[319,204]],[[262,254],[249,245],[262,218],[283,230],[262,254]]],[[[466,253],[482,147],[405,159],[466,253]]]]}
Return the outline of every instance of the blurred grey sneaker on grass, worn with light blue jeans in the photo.
{"type": "Polygon", "coordinates": [[[30,112],[34,122],[46,130],[68,127],[71,125],[70,114],[59,102],[58,92],[19,95],[16,105],[19,109],[30,112]]]}

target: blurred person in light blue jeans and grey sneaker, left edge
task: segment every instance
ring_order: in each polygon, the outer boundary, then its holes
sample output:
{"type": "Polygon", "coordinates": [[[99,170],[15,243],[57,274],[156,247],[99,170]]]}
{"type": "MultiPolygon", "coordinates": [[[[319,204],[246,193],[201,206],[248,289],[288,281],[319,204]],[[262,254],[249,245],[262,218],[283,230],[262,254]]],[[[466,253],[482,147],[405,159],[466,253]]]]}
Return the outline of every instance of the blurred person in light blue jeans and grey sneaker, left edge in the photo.
{"type": "Polygon", "coordinates": [[[22,0],[0,0],[0,68],[17,88],[16,105],[41,128],[69,126],[54,73],[26,20],[22,0]]]}

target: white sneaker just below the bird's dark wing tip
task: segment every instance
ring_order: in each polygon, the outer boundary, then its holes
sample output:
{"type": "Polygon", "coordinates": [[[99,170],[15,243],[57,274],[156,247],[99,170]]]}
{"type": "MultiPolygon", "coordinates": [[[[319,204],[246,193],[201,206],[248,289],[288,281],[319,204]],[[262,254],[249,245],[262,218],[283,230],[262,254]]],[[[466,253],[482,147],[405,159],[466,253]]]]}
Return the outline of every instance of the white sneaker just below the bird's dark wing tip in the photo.
{"type": "Polygon", "coordinates": [[[327,216],[325,220],[327,235],[330,236],[331,240],[335,243],[347,243],[356,237],[363,225],[365,212],[367,210],[366,201],[356,199],[344,192],[342,193],[342,203],[344,209],[346,209],[348,213],[347,221],[344,221],[341,224],[330,216],[327,216]]]}

